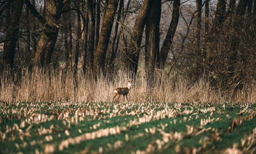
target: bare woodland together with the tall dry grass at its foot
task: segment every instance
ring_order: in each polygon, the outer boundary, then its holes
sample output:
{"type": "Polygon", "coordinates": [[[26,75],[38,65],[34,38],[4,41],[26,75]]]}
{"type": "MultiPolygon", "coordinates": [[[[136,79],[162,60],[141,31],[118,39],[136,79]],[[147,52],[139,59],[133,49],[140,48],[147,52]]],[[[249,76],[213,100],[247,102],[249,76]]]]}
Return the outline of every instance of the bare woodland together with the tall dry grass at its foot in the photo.
{"type": "Polygon", "coordinates": [[[255,102],[255,0],[0,2],[2,101],[255,102]]]}

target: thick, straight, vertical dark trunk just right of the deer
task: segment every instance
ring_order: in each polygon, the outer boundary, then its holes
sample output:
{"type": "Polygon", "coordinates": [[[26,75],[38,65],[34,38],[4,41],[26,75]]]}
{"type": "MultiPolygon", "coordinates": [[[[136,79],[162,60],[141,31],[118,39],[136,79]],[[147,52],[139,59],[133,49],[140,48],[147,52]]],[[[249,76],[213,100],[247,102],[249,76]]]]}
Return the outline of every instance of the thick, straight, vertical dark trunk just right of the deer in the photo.
{"type": "Polygon", "coordinates": [[[161,2],[154,0],[149,11],[149,18],[145,25],[145,72],[149,86],[152,87],[154,86],[155,67],[159,63],[161,2]]]}

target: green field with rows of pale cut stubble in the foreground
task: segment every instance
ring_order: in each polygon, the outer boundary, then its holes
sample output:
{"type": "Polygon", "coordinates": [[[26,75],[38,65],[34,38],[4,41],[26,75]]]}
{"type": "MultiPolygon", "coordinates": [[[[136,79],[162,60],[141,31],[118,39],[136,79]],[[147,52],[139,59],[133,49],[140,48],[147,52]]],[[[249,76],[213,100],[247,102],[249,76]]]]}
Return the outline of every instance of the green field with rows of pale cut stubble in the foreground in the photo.
{"type": "Polygon", "coordinates": [[[0,153],[255,153],[254,103],[0,103],[0,153]]]}

